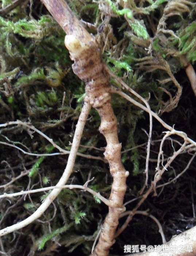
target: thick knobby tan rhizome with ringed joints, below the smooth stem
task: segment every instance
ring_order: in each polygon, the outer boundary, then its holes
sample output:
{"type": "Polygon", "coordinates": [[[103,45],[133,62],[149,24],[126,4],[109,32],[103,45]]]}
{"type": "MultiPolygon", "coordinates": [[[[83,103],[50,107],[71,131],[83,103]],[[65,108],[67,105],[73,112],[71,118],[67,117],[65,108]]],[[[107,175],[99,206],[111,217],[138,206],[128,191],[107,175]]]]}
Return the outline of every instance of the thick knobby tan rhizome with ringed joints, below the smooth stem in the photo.
{"type": "Polygon", "coordinates": [[[104,156],[108,160],[110,173],[114,179],[109,197],[112,207],[109,207],[99,242],[92,252],[93,256],[107,256],[109,248],[115,242],[114,236],[119,216],[125,211],[123,198],[128,171],[124,169],[121,162],[121,144],[118,140],[117,120],[111,105],[111,87],[101,62],[99,47],[93,39],[88,43],[82,43],[73,35],[65,37],[65,45],[74,61],[73,72],[85,82],[89,102],[101,117],[99,131],[105,136],[107,142],[104,156]]]}

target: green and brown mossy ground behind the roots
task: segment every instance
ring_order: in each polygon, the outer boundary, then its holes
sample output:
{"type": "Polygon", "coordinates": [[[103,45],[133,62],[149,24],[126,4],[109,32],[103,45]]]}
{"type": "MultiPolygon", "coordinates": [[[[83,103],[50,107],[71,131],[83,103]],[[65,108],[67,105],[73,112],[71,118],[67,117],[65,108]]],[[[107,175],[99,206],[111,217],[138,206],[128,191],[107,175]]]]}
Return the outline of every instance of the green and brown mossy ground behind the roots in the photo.
{"type": "MultiPolygon", "coordinates": [[[[0,1],[1,8],[10,1],[0,1]]],[[[173,1],[175,2],[175,1],[173,1]]],[[[194,1],[168,15],[167,1],[68,1],[78,18],[92,23],[89,32],[96,35],[103,51],[103,60],[113,72],[144,98],[150,99],[153,111],[161,109],[162,118],[175,129],[196,139],[196,100],[188,78],[179,61],[185,55],[196,69],[196,9],[194,1]],[[126,6],[123,4],[126,3],[126,6]],[[184,8],[183,8],[184,7],[184,8]],[[132,10],[132,12],[130,11],[132,10]],[[125,14],[125,16],[124,16],[125,14]],[[164,16],[165,15],[165,16],[164,16]],[[168,16],[167,16],[168,15],[168,16]],[[167,32],[161,32],[166,22],[167,32]],[[160,26],[158,30],[158,26],[160,26]],[[151,59],[142,58],[150,57],[151,59]],[[169,64],[166,66],[166,64],[169,64]],[[164,66],[165,65],[165,66],[164,66]],[[164,69],[161,70],[160,67],[164,69]],[[177,83],[182,86],[182,95],[177,83]],[[164,88],[164,89],[162,89],[164,88]],[[169,96],[169,92],[171,97],[169,96]]],[[[170,5],[172,1],[169,1],[170,5]]],[[[168,8],[171,8],[168,7],[168,8]]],[[[28,121],[69,150],[74,129],[82,107],[84,83],[72,72],[69,53],[64,46],[65,33],[51,18],[38,0],[26,2],[0,17],[0,123],[28,121]],[[64,98],[64,99],[63,99],[64,98]],[[78,100],[80,99],[80,100],[78,100]]],[[[111,83],[114,81],[111,80],[111,83]]],[[[118,86],[118,85],[117,85],[118,86]]],[[[127,179],[125,202],[137,197],[145,182],[145,157],[149,115],[119,96],[112,96],[118,119],[119,141],[123,164],[130,172],[127,179]],[[137,145],[138,146],[135,148],[137,145]]],[[[105,140],[99,134],[100,118],[91,110],[82,136],[80,152],[103,157],[105,140]],[[99,150],[100,149],[100,150],[99,150]]],[[[156,159],[162,132],[165,129],[153,121],[153,136],[149,163],[149,183],[154,177],[156,159]],[[154,141],[154,142],[153,142],[154,141]]],[[[179,138],[178,142],[182,142],[179,138]]],[[[54,153],[57,149],[41,135],[23,127],[1,129],[0,141],[11,143],[25,151],[37,154],[54,153]]],[[[164,145],[165,158],[179,145],[168,140],[164,145]]],[[[1,186],[1,194],[55,185],[66,166],[67,155],[35,157],[16,148],[0,144],[0,183],[4,185],[27,175],[9,186],[1,186]],[[30,172],[30,174],[29,174],[30,172]]],[[[187,165],[191,152],[177,157],[160,184],[174,178],[187,165]]],[[[193,208],[195,198],[195,167],[192,162],[185,175],[169,184],[158,197],[150,195],[140,210],[149,209],[162,224],[166,240],[172,235],[195,225],[193,208]]],[[[95,179],[89,183],[105,197],[109,196],[112,178],[104,161],[77,157],[74,172],[68,183],[84,184],[90,173],[95,179]]],[[[28,217],[43,200],[43,193],[0,201],[0,224],[4,228],[28,217]]],[[[131,210],[137,200],[126,206],[131,210]]],[[[85,191],[63,190],[45,214],[14,234],[1,238],[1,251],[7,255],[88,255],[107,207],[98,204],[85,191]]],[[[195,210],[194,210],[195,211],[195,210]]],[[[120,220],[123,224],[124,218],[120,220]]],[[[122,255],[125,244],[161,244],[157,225],[149,218],[135,215],[127,229],[116,239],[112,254],[122,255]]]]}

